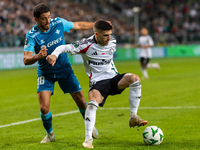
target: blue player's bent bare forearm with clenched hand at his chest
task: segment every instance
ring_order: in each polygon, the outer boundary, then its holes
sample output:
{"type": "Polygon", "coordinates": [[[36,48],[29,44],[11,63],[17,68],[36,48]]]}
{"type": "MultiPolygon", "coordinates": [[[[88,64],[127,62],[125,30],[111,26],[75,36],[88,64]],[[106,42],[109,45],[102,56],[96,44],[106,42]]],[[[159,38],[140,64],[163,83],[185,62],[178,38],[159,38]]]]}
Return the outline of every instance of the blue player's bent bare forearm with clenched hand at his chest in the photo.
{"type": "Polygon", "coordinates": [[[33,52],[25,51],[23,62],[25,65],[32,65],[36,63],[38,60],[43,59],[47,56],[47,49],[43,47],[40,52],[36,55],[33,55],[33,52]]]}

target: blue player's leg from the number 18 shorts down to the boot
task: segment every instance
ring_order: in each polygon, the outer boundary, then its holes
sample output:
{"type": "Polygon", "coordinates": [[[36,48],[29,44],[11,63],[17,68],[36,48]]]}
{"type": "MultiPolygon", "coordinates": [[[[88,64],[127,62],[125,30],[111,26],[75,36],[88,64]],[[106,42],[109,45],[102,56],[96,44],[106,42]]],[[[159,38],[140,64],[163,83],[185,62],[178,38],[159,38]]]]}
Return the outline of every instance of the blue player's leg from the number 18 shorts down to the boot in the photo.
{"type": "Polygon", "coordinates": [[[54,89],[54,82],[49,77],[38,77],[38,100],[40,103],[40,117],[43,122],[43,126],[46,130],[46,136],[41,143],[49,143],[55,140],[52,127],[52,114],[50,111],[50,97],[54,89]]]}

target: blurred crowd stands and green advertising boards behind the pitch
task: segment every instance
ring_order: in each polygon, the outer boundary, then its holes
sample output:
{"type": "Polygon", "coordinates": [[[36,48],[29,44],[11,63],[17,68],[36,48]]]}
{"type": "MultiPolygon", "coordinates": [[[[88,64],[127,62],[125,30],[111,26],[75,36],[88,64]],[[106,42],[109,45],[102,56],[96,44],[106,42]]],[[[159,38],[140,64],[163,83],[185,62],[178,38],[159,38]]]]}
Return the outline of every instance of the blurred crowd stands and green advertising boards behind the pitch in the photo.
{"type": "MultiPolygon", "coordinates": [[[[138,58],[139,49],[130,48],[130,44],[137,42],[141,27],[149,30],[155,42],[154,58],[200,56],[199,0],[1,0],[0,70],[24,67],[25,34],[35,24],[32,12],[39,3],[50,6],[52,18],[111,21],[118,42],[115,60],[138,58]]],[[[65,41],[71,43],[92,34],[92,29],[70,31],[65,41]]],[[[70,60],[81,63],[79,56],[70,60]]]]}

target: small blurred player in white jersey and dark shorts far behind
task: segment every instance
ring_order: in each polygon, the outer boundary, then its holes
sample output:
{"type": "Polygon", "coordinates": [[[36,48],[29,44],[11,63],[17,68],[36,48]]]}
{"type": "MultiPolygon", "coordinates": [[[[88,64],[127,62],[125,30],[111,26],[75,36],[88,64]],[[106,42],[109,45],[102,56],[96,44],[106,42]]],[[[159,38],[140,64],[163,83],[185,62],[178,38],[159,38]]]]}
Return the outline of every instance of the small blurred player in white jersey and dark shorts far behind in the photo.
{"type": "Polygon", "coordinates": [[[153,39],[148,35],[147,28],[141,29],[141,36],[138,39],[138,44],[133,45],[133,47],[141,47],[140,52],[140,66],[143,74],[143,79],[148,79],[149,75],[147,69],[156,68],[160,70],[160,65],[158,63],[149,63],[152,58],[151,47],[154,46],[153,39]]]}

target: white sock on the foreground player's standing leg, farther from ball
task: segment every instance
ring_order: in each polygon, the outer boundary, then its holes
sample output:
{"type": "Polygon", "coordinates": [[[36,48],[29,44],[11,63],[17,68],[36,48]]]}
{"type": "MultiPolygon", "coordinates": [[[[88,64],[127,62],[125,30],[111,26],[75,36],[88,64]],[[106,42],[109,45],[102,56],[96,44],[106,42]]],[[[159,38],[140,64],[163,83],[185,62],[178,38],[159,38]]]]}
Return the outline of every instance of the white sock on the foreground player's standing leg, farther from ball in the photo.
{"type": "Polygon", "coordinates": [[[90,101],[88,103],[86,112],[85,112],[85,140],[92,139],[92,130],[95,125],[96,120],[96,110],[98,108],[98,103],[95,101],[90,101]]]}

